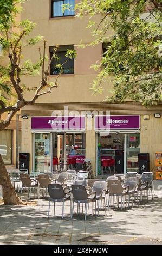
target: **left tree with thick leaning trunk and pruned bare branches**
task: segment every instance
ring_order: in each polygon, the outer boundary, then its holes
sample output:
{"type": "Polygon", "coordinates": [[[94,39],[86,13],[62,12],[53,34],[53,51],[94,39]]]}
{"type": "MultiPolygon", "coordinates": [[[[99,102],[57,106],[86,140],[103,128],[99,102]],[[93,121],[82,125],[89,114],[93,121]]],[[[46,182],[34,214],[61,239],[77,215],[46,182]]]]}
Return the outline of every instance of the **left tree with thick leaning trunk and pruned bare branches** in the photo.
{"type": "MultiPolygon", "coordinates": [[[[22,2],[24,2],[24,0],[1,0],[0,2],[0,7],[2,7],[0,11],[0,42],[3,46],[4,53],[7,52],[9,58],[8,66],[0,65],[0,131],[10,124],[11,119],[22,107],[31,104],[33,105],[38,97],[51,93],[53,88],[57,88],[57,81],[62,73],[62,66],[65,64],[59,63],[60,59],[56,53],[58,46],[56,46],[46,69],[45,63],[46,60],[48,60],[45,55],[46,41],[44,41],[43,45],[43,54],[41,54],[39,48],[40,59],[38,59],[37,63],[32,63],[31,60],[23,60],[22,49],[25,46],[35,45],[38,41],[42,40],[42,37],[36,36],[35,38],[30,38],[30,32],[34,28],[35,23],[29,20],[23,20],[20,23],[16,23],[14,18],[21,10],[17,4],[22,2]],[[17,29],[15,30],[15,28],[17,29]],[[55,68],[57,68],[57,70],[59,69],[60,72],[57,75],[55,82],[49,83],[49,69],[53,58],[58,61],[55,68]],[[22,84],[22,76],[38,75],[40,68],[42,69],[40,85],[35,88],[30,88],[25,84],[22,84]],[[33,98],[31,100],[25,100],[25,91],[31,89],[35,91],[33,98]],[[2,115],[4,113],[7,115],[7,118],[2,120],[2,115]]],[[[75,58],[75,51],[67,50],[66,57],[67,60],[68,58],[75,58]]],[[[3,188],[4,204],[23,204],[11,184],[1,155],[0,185],[2,185],[3,188]]]]}

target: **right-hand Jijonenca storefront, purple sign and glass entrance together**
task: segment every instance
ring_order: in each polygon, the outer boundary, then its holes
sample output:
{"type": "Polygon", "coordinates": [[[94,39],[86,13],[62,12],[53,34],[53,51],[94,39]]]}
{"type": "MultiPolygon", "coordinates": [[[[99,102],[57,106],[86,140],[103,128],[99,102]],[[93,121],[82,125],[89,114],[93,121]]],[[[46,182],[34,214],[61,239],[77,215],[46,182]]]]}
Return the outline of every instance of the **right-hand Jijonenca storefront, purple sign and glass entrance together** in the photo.
{"type": "Polygon", "coordinates": [[[109,168],[115,173],[126,173],[129,170],[138,172],[139,129],[139,115],[95,117],[96,173],[98,175],[103,173],[102,161],[105,159],[114,160],[114,166],[109,168]]]}

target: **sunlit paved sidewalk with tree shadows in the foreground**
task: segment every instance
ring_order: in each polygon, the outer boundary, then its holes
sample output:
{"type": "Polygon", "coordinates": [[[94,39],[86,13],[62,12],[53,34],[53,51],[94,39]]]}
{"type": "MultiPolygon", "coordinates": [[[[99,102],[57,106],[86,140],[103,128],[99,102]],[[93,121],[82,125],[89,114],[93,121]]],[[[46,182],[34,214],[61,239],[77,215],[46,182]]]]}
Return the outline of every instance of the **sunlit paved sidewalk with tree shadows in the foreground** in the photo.
{"type": "MultiPolygon", "coordinates": [[[[0,244],[162,244],[162,194],[155,192],[149,203],[144,200],[130,210],[110,209],[105,216],[74,214],[70,220],[69,202],[61,219],[62,203],[57,203],[56,216],[51,207],[47,218],[48,201],[40,199],[37,205],[0,205],[0,244]]],[[[36,200],[37,201],[37,200],[36,200]]]]}

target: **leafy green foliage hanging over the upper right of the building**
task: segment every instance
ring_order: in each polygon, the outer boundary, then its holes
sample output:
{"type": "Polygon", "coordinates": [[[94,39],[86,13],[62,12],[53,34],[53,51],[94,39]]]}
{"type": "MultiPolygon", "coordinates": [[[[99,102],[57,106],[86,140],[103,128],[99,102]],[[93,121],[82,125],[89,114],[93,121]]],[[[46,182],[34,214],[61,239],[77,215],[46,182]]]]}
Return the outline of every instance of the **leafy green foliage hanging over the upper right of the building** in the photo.
{"type": "Polygon", "coordinates": [[[107,44],[93,81],[94,93],[103,91],[102,82],[113,77],[113,96],[109,102],[126,99],[145,106],[161,101],[162,35],[161,0],[82,0],[76,5],[78,16],[89,15],[94,41],[107,44]],[[99,23],[94,15],[101,15],[99,23]],[[109,31],[112,30],[112,33],[109,31]]]}

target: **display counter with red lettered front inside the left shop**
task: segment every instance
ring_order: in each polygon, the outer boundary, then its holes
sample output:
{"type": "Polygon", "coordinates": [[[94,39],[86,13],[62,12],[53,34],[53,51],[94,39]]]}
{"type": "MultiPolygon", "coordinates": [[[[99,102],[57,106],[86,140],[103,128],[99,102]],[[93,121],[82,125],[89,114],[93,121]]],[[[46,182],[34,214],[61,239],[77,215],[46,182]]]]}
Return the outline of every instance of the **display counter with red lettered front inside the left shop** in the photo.
{"type": "Polygon", "coordinates": [[[70,148],[68,158],[76,158],[76,169],[82,169],[86,149],[70,148]]]}

